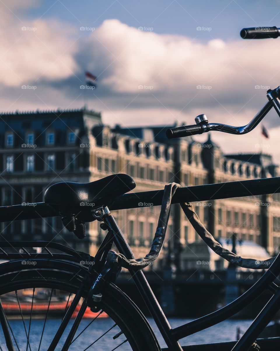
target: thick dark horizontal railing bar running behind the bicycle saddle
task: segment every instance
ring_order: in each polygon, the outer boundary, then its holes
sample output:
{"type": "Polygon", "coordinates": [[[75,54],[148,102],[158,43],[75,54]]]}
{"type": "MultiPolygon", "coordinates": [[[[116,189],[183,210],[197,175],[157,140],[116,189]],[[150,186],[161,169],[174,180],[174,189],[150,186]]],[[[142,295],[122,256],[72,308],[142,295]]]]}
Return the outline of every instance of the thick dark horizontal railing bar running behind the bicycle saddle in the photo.
{"type": "MultiPolygon", "coordinates": [[[[172,198],[172,204],[178,204],[185,201],[192,202],[229,199],[243,196],[274,194],[279,192],[280,177],[196,185],[177,189],[172,198]]],[[[139,205],[139,203],[143,203],[144,205],[145,203],[152,203],[153,206],[159,206],[161,205],[162,197],[163,190],[128,193],[118,196],[110,206],[110,210],[143,207],[143,205],[139,205]]],[[[1,206],[0,222],[59,216],[58,211],[55,208],[43,202],[34,203],[33,205],[34,206],[1,206]]]]}

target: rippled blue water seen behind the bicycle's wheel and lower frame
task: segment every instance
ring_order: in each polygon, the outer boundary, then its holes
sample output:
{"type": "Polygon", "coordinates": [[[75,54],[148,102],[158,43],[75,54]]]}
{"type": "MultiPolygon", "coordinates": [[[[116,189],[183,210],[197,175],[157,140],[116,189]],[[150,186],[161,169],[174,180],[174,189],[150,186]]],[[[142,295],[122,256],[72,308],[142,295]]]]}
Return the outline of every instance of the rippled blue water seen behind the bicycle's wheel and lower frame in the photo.
{"type": "MultiPolygon", "coordinates": [[[[60,319],[48,319],[45,325],[44,336],[42,338],[42,343],[40,346],[41,351],[46,351],[48,345],[50,343],[51,337],[54,335],[54,332],[57,330],[59,326],[60,319]]],[[[165,343],[155,326],[154,321],[151,318],[148,318],[149,323],[151,324],[156,337],[159,340],[160,346],[165,347],[165,343]]],[[[169,322],[172,327],[176,327],[182,325],[184,323],[190,322],[191,319],[178,319],[178,318],[170,318],[169,322]]],[[[73,321],[72,321],[73,322],[73,321]]],[[[82,331],[89,323],[91,319],[82,320],[78,332],[76,336],[82,331]]],[[[105,331],[110,329],[114,322],[111,318],[103,318],[93,322],[91,325],[87,327],[82,336],[80,336],[69,348],[69,351],[83,351],[87,346],[89,346],[94,340],[99,338],[105,331]]],[[[15,339],[18,343],[20,351],[26,351],[27,338],[25,334],[25,330],[23,328],[22,320],[20,319],[12,319],[9,320],[10,326],[14,332],[15,339]]],[[[248,326],[252,323],[252,320],[238,320],[238,319],[230,319],[224,322],[221,322],[215,326],[212,326],[204,331],[198,332],[196,334],[190,335],[187,338],[181,340],[181,345],[195,345],[195,344],[206,344],[206,343],[214,343],[214,342],[226,342],[236,340],[236,331],[237,327],[240,327],[241,331],[245,331],[248,326]]],[[[29,320],[25,320],[26,329],[28,333],[28,325],[29,320]]],[[[44,319],[33,319],[30,326],[30,346],[31,350],[38,350],[41,333],[44,325],[44,319]]],[[[68,326],[70,329],[71,326],[68,326]]],[[[114,347],[119,345],[121,342],[125,340],[124,335],[121,335],[116,340],[113,340],[113,336],[116,335],[120,331],[119,327],[113,327],[111,331],[109,331],[105,337],[99,339],[93,346],[91,346],[88,350],[95,351],[106,351],[112,350],[114,347]]],[[[65,340],[65,337],[62,338],[62,342],[65,340]]],[[[5,342],[2,333],[0,333],[0,345],[2,351],[6,351],[5,342]]],[[[62,343],[59,344],[57,350],[61,350],[62,343]]],[[[18,350],[15,346],[15,350],[18,350]]],[[[28,348],[29,350],[29,348],[28,348]]],[[[121,345],[118,350],[128,351],[131,350],[130,346],[125,343],[121,345]]]]}

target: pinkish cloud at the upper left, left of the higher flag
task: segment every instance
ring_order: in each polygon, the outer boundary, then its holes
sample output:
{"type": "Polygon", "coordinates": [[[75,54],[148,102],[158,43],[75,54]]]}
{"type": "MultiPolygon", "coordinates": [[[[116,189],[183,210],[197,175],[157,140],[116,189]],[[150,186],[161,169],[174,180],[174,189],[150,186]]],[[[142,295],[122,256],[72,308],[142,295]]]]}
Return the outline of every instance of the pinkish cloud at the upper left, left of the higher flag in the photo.
{"type": "Polygon", "coordinates": [[[23,12],[31,5],[36,1],[1,3],[0,84],[5,86],[61,80],[79,69],[73,29],[55,20],[25,19],[23,12]]]}

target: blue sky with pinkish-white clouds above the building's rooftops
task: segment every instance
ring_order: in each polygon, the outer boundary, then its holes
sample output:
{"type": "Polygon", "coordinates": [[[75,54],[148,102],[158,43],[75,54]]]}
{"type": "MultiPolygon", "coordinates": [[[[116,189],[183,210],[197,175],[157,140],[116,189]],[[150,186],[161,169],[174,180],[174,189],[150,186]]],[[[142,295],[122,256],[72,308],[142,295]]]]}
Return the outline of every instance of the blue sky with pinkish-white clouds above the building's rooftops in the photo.
{"type": "MultiPolygon", "coordinates": [[[[2,0],[0,11],[1,112],[86,104],[111,126],[194,124],[202,113],[238,126],[280,85],[280,39],[239,36],[280,27],[279,0],[2,0]],[[96,89],[82,89],[85,71],[96,89]]],[[[225,153],[271,153],[280,164],[276,112],[263,124],[269,139],[260,126],[211,136],[225,153]]]]}

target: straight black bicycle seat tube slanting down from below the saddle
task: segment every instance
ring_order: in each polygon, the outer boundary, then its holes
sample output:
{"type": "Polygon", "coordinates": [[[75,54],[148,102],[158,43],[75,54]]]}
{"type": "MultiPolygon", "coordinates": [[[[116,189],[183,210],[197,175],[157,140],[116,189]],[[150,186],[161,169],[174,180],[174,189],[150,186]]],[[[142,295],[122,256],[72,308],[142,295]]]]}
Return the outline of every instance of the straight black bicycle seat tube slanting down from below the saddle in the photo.
{"type": "MultiPolygon", "coordinates": [[[[114,243],[117,246],[117,249],[120,253],[124,254],[127,259],[135,258],[127,241],[121,232],[116,220],[112,214],[107,214],[104,218],[104,222],[110,227],[114,232],[114,243]]],[[[147,279],[144,273],[139,270],[138,272],[130,271],[132,279],[135,282],[144,302],[146,303],[149,311],[152,314],[152,317],[161,332],[163,339],[166,342],[166,345],[170,350],[173,351],[183,351],[179,342],[171,334],[170,324],[163,313],[158,300],[154,296],[154,293],[147,282],[147,279]]]]}

